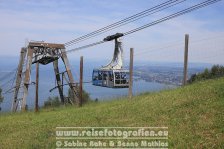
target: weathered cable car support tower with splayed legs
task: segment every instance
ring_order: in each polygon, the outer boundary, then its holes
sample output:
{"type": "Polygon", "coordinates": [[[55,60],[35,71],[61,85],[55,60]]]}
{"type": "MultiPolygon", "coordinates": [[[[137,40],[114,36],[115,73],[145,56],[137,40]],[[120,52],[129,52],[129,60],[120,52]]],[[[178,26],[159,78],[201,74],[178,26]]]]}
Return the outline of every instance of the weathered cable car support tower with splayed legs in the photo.
{"type": "MultiPolygon", "coordinates": [[[[16,76],[16,86],[14,89],[13,101],[12,101],[12,111],[17,111],[19,103],[22,103],[21,108],[26,110],[26,101],[28,96],[28,88],[31,84],[30,74],[31,74],[31,65],[37,63],[39,72],[39,63],[42,65],[47,65],[53,63],[55,77],[57,81],[57,88],[61,98],[61,102],[65,102],[65,97],[63,95],[63,77],[66,76],[68,79],[67,83],[69,84],[70,89],[74,92],[73,101],[80,103],[80,98],[78,95],[77,85],[75,85],[71,69],[69,66],[69,61],[65,51],[64,44],[54,44],[54,43],[45,43],[45,42],[29,42],[28,46],[21,49],[20,53],[20,62],[17,69],[16,76]],[[59,72],[58,68],[58,59],[62,59],[65,72],[59,72]],[[25,67],[23,67],[25,66],[25,67]],[[25,76],[23,75],[23,69],[25,69],[25,76]],[[63,77],[60,74],[63,73],[63,77]],[[23,90],[22,97],[19,98],[19,92],[23,90]]],[[[38,81],[36,82],[38,83],[38,81]]],[[[37,95],[36,95],[37,96],[37,95]]],[[[70,100],[70,103],[72,101],[70,100]]]]}

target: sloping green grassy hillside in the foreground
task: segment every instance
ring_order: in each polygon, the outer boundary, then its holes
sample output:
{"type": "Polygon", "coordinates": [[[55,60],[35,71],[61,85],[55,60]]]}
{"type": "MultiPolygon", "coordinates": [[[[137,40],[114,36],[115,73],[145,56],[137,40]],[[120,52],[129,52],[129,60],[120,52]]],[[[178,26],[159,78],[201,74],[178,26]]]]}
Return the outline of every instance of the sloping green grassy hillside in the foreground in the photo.
{"type": "Polygon", "coordinates": [[[0,115],[0,148],[55,148],[57,126],[165,126],[169,148],[224,146],[224,78],[129,99],[0,115]]]}

